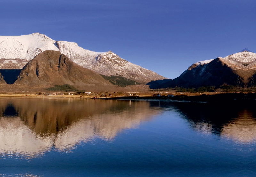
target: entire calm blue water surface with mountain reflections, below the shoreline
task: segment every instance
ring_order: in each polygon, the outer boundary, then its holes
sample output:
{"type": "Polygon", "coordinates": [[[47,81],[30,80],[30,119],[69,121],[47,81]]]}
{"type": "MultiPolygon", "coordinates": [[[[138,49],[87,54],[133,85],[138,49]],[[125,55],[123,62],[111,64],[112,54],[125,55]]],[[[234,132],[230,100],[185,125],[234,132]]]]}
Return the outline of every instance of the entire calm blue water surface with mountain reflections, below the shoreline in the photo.
{"type": "Polygon", "coordinates": [[[256,176],[254,105],[0,99],[0,176],[256,176]]]}

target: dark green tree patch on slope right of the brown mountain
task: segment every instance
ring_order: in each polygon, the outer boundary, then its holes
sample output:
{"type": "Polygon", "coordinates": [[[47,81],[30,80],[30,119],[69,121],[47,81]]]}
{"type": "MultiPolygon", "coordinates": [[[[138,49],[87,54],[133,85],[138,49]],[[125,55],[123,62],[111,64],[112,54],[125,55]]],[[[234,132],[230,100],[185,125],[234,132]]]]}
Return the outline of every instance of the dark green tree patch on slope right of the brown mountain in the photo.
{"type": "Polygon", "coordinates": [[[117,85],[119,87],[126,87],[129,85],[135,85],[135,84],[140,84],[134,80],[131,79],[127,79],[121,75],[116,75],[116,76],[106,76],[106,75],[102,75],[100,74],[100,76],[102,76],[105,80],[108,80],[111,84],[113,85],[117,85]]]}

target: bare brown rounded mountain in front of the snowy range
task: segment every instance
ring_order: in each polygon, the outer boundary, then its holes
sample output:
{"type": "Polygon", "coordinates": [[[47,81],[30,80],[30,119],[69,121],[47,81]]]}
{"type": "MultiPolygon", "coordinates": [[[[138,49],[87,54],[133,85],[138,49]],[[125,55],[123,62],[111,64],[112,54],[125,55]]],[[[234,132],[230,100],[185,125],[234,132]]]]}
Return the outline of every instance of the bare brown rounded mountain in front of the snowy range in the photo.
{"type": "Polygon", "coordinates": [[[95,91],[115,87],[98,73],[77,65],[59,51],[44,51],[29,61],[12,87],[42,89],[63,84],[95,91]]]}

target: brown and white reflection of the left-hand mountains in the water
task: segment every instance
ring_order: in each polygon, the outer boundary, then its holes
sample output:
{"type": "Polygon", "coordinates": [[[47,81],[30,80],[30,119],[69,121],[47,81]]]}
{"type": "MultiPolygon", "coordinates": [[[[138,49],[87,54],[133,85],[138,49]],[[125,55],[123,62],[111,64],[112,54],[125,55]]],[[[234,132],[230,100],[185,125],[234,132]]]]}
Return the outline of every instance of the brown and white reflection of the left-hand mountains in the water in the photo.
{"type": "Polygon", "coordinates": [[[33,157],[69,150],[93,138],[112,140],[157,111],[148,102],[85,99],[0,99],[0,153],[33,157]]]}

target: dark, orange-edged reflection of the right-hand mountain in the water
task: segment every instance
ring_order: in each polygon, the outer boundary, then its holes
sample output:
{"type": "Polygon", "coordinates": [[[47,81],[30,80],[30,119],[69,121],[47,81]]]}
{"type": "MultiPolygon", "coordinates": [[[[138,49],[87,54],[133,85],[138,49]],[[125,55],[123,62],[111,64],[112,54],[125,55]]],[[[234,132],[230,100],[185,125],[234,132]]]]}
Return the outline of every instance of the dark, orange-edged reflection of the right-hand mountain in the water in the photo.
{"type": "Polygon", "coordinates": [[[175,107],[194,130],[213,133],[237,143],[256,140],[256,110],[252,105],[178,103],[175,107]]]}

